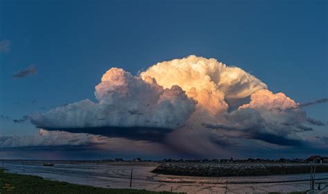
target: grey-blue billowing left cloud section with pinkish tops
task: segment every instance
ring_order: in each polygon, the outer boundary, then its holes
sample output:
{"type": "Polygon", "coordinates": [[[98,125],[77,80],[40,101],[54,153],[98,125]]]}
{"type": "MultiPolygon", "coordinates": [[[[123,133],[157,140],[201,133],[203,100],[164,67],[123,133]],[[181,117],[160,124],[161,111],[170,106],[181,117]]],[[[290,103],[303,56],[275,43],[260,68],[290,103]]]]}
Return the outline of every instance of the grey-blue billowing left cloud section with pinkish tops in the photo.
{"type": "Polygon", "coordinates": [[[34,114],[37,127],[181,127],[194,112],[196,101],[179,86],[164,89],[154,78],[145,80],[123,69],[112,68],[95,87],[95,98],[81,100],[44,114],[34,114]],[[60,122],[59,122],[60,121],[60,122]]]}

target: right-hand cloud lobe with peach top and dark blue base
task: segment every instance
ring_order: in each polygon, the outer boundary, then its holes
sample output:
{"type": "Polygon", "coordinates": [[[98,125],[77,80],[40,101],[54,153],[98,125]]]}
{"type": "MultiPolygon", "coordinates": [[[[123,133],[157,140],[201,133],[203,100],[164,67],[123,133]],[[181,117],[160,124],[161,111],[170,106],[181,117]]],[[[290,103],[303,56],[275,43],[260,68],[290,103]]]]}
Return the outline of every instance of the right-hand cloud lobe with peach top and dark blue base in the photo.
{"type": "Polygon", "coordinates": [[[306,124],[323,124],[307,117],[302,109],[298,109],[299,103],[285,94],[273,94],[261,89],[250,99],[250,103],[223,114],[222,123],[203,123],[203,126],[224,130],[231,137],[258,139],[277,145],[297,145],[303,140],[298,136],[299,132],[313,130],[306,124]]]}

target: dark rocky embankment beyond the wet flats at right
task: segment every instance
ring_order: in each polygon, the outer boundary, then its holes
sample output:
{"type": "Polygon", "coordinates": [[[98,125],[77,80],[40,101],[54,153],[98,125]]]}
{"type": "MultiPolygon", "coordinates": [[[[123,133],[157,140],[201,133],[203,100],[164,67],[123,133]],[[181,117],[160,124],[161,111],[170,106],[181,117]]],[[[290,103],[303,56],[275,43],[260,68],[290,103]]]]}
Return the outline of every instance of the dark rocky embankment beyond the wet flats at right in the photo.
{"type": "MultiPolygon", "coordinates": [[[[310,173],[310,164],[295,163],[163,163],[152,173],[198,177],[287,175],[310,173]]],[[[316,173],[327,173],[328,164],[317,164],[316,173]]]]}

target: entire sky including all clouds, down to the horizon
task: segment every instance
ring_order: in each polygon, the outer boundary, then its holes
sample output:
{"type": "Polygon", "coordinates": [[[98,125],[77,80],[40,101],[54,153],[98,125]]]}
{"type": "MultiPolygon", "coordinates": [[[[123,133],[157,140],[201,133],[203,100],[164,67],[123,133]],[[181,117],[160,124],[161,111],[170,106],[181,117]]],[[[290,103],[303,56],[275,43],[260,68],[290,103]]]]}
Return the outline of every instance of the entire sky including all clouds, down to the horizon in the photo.
{"type": "Polygon", "coordinates": [[[327,103],[302,106],[328,98],[327,26],[327,1],[0,1],[0,153],[28,159],[328,155],[327,103]],[[239,83],[228,83],[231,75],[239,83]],[[217,91],[203,82],[208,77],[217,91]],[[129,85],[116,87],[120,80],[129,85]],[[123,98],[120,89],[134,96],[123,98]],[[199,97],[202,89],[214,96],[199,97]],[[246,96],[232,103],[242,91],[246,96]],[[261,101],[279,92],[282,103],[261,101]],[[250,102],[253,94],[258,103],[250,102]],[[244,115],[255,123],[245,123],[244,115]]]}

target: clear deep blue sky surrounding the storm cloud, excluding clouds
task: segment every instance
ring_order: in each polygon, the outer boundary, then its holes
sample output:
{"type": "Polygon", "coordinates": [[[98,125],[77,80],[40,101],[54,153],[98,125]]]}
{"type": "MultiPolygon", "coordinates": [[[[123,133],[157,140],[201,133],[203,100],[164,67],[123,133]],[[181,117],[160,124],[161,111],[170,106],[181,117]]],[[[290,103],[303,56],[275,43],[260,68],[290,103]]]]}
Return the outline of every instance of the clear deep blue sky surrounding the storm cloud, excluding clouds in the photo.
{"type": "MultiPolygon", "coordinates": [[[[0,114],[94,100],[111,67],[136,75],[188,55],[240,67],[300,103],[327,98],[327,26],[327,1],[0,1],[0,41],[11,43],[0,53],[0,114]],[[12,78],[30,65],[37,74],[12,78]]],[[[327,123],[327,103],[304,109],[327,123]]]]}

